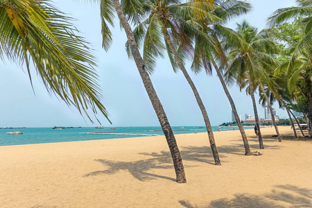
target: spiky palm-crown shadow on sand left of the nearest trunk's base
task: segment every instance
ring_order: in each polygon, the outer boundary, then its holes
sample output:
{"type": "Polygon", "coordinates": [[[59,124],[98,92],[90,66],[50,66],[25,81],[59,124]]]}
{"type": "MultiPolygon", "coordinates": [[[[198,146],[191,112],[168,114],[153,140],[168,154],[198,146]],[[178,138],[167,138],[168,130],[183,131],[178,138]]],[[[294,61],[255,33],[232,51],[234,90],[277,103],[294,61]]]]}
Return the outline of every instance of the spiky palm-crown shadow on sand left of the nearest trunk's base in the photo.
{"type": "MultiPolygon", "coordinates": [[[[155,177],[159,177],[166,180],[175,181],[173,177],[166,177],[164,175],[157,175],[155,173],[148,173],[151,169],[174,169],[173,164],[164,164],[159,162],[158,158],[138,160],[135,162],[118,162],[108,159],[96,159],[96,162],[101,162],[101,164],[108,166],[104,171],[94,171],[84,175],[84,177],[94,176],[94,175],[112,175],[119,171],[128,171],[133,177],[140,181],[153,180],[155,177]]],[[[166,163],[166,162],[165,162],[166,163]]]]}

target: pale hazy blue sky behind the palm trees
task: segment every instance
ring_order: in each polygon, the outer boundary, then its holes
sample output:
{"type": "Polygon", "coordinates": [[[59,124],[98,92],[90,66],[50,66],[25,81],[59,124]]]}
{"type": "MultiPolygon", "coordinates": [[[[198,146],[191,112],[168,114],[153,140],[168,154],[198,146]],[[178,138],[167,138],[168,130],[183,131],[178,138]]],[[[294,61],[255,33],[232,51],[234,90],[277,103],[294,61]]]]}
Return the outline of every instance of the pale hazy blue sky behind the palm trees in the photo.
{"type": "MultiPolygon", "coordinates": [[[[112,28],[113,44],[108,52],[102,49],[100,11],[95,3],[87,1],[54,1],[55,6],[69,16],[73,23],[92,44],[94,55],[98,58],[98,84],[101,86],[101,102],[109,113],[110,124],[105,116],[98,114],[101,125],[112,126],[159,126],[159,121],[144,89],[144,85],[135,66],[125,53],[126,36],[116,19],[112,28]]],[[[233,19],[227,26],[235,28],[236,22],[248,20],[259,30],[266,28],[266,19],[278,8],[295,6],[295,0],[250,0],[253,10],[247,15],[233,19]]],[[[207,76],[205,71],[195,75],[186,66],[198,92],[205,104],[211,125],[220,125],[231,121],[232,108],[216,76],[207,76]]],[[[0,62],[0,127],[53,127],[86,126],[92,123],[79,114],[74,107],[68,107],[55,96],[49,95],[35,69],[31,71],[33,88],[26,67],[19,67],[8,61],[0,62]],[[34,90],[33,90],[34,89],[34,90]]],[[[182,75],[174,73],[168,59],[158,60],[157,67],[150,76],[155,90],[167,114],[168,121],[175,125],[205,125],[202,114],[193,96],[191,87],[182,75]]],[[[235,85],[229,88],[236,109],[244,119],[245,114],[254,114],[250,96],[235,85]]],[[[256,94],[256,100],[259,96],[256,94]]],[[[257,102],[258,103],[258,102],[257,102]]],[[[286,117],[286,112],[273,105],[277,115],[286,117]]],[[[257,105],[258,114],[264,118],[264,109],[257,105]]],[[[94,116],[92,116],[94,119],[94,116]]],[[[96,119],[94,119],[96,121],[96,119]]]]}

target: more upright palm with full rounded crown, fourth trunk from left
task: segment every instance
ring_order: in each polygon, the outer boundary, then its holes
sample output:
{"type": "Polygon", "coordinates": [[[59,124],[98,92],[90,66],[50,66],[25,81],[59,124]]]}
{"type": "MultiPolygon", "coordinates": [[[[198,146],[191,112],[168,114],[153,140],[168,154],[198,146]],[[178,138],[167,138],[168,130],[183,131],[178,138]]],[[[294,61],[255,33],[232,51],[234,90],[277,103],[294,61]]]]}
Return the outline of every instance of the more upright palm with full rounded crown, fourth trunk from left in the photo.
{"type": "Polygon", "coordinates": [[[254,90],[257,87],[257,73],[262,71],[263,62],[271,62],[272,57],[268,53],[275,53],[274,42],[267,31],[257,33],[257,28],[250,26],[246,21],[237,24],[237,30],[227,37],[225,49],[229,51],[229,69],[227,79],[236,80],[239,85],[245,87],[249,84],[248,93],[252,98],[254,117],[259,130],[259,146],[263,149],[262,135],[259,125],[257,105],[254,99],[254,90]],[[246,80],[248,80],[246,82],[246,80]]]}

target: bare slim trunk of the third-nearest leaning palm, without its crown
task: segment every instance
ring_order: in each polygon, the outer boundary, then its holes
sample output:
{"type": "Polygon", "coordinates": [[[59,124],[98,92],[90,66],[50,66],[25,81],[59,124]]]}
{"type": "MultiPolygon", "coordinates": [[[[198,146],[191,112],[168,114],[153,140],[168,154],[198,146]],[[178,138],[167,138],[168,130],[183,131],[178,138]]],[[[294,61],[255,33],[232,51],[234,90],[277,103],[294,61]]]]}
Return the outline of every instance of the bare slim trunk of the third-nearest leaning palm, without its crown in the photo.
{"type": "Polygon", "coordinates": [[[229,94],[229,90],[227,90],[227,85],[225,85],[225,81],[223,80],[223,77],[222,77],[222,75],[220,73],[220,70],[219,70],[216,62],[214,62],[214,60],[211,60],[211,62],[214,65],[214,69],[216,69],[216,73],[218,75],[218,78],[220,79],[220,83],[221,83],[221,85],[223,87],[223,90],[224,90],[225,94],[227,95],[227,99],[229,100],[229,104],[232,107],[232,111],[234,113],[237,126],[239,127],[239,131],[241,132],[241,137],[243,139],[243,144],[244,144],[244,147],[245,147],[245,155],[251,155],[250,147],[249,147],[248,140],[247,140],[247,137],[246,137],[246,134],[245,134],[245,130],[243,128],[243,125],[241,125],[241,119],[239,119],[239,114],[237,113],[237,110],[236,110],[234,101],[232,99],[232,96],[229,94]]]}

